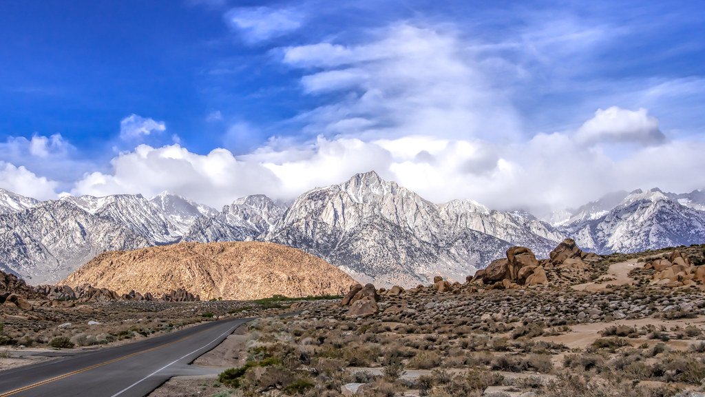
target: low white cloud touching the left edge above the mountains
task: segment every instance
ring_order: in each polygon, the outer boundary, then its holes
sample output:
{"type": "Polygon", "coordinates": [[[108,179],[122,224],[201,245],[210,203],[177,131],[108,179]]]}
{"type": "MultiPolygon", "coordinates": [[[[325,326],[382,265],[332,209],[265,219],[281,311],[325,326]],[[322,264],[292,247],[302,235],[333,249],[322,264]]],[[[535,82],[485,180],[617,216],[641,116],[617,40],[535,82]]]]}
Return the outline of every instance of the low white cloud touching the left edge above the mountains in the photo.
{"type": "Polygon", "coordinates": [[[0,187],[23,196],[48,200],[57,198],[58,182],[46,177],[38,177],[27,168],[16,167],[9,162],[0,161],[0,187]]]}

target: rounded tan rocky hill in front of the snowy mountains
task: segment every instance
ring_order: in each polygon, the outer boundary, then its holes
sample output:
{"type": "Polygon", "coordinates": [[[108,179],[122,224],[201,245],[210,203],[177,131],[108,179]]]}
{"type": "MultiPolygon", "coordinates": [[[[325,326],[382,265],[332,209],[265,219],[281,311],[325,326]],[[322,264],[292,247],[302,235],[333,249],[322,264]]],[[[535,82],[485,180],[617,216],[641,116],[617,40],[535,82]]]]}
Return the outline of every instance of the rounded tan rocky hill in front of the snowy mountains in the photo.
{"type": "Polygon", "coordinates": [[[305,297],[348,292],[355,280],[323,259],[269,242],[183,242],[110,251],[59,284],[161,295],[185,288],[202,300],[305,297]]]}

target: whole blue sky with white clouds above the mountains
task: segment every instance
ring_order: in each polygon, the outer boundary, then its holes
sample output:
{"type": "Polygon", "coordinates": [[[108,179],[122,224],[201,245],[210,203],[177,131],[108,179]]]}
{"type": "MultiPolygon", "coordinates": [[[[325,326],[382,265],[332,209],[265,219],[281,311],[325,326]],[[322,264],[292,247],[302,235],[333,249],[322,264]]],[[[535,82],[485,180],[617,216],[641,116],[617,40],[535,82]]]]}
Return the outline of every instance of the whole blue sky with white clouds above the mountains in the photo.
{"type": "Polygon", "coordinates": [[[546,212],[705,188],[694,1],[0,0],[0,187],[219,207],[376,171],[546,212]]]}

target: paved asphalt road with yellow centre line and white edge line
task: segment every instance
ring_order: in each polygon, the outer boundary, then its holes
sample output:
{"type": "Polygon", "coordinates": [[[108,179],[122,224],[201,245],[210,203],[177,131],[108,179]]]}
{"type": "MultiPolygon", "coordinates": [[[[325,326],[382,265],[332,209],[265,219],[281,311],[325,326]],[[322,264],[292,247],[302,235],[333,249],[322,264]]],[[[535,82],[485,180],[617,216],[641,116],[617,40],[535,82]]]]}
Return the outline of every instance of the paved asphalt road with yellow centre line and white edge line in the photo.
{"type": "Polygon", "coordinates": [[[0,372],[0,397],[146,396],[250,319],[212,321],[127,345],[0,372]]]}

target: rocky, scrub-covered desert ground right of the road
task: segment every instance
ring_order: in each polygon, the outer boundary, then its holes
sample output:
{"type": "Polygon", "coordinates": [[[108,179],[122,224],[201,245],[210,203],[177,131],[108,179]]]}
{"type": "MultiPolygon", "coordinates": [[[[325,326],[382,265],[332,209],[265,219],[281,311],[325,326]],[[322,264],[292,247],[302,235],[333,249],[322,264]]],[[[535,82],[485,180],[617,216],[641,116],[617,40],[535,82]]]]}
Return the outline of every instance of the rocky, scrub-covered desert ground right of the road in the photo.
{"type": "Polygon", "coordinates": [[[681,276],[697,274],[705,246],[601,257],[568,239],[546,259],[512,247],[494,263],[465,283],[355,285],[338,304],[308,302],[295,316],[258,319],[236,367],[217,381],[174,379],[164,389],[439,397],[705,391],[704,285],[697,277],[666,285],[654,273],[687,266],[681,276]]]}

